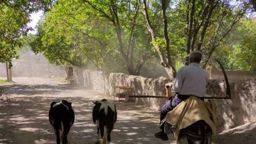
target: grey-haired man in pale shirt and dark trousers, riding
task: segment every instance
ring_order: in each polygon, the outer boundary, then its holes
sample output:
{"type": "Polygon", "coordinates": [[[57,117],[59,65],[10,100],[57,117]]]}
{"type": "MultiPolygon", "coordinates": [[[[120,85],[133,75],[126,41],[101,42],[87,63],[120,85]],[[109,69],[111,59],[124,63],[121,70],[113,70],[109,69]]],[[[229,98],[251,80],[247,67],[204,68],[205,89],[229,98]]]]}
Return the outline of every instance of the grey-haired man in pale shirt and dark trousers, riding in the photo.
{"type": "Polygon", "coordinates": [[[171,88],[176,94],[173,99],[161,107],[160,129],[155,136],[164,141],[168,140],[167,134],[164,133],[165,117],[167,113],[179,105],[181,101],[189,96],[202,98],[206,93],[207,73],[202,69],[199,63],[202,60],[202,54],[199,51],[193,51],[189,54],[190,64],[181,67],[174,82],[165,84],[165,88],[171,88]]]}

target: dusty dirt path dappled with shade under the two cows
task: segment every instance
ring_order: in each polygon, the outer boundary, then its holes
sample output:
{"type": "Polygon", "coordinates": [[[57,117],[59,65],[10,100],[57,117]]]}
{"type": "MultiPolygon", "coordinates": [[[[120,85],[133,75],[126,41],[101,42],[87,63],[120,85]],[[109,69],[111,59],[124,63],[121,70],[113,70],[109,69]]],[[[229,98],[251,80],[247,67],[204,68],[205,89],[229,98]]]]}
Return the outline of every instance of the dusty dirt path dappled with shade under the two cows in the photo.
{"type": "MultiPolygon", "coordinates": [[[[70,143],[95,143],[92,101],[112,98],[72,86],[63,79],[14,78],[14,82],[0,86],[0,94],[11,98],[0,104],[0,143],[55,143],[48,111],[51,101],[60,99],[72,101],[75,111],[75,123],[68,135],[70,143]]],[[[174,143],[154,137],[154,132],[158,132],[158,111],[124,101],[116,101],[116,105],[112,143],[174,143]]]]}

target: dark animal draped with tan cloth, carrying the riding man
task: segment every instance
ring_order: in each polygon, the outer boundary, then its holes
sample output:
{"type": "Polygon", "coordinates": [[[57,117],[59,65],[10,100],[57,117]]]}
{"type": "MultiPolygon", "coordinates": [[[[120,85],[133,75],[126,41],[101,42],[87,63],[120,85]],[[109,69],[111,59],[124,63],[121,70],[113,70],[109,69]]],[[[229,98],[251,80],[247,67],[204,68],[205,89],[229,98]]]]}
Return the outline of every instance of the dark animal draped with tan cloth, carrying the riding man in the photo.
{"type": "Polygon", "coordinates": [[[216,107],[215,101],[190,96],[167,114],[166,132],[173,132],[178,144],[209,144],[216,133],[216,107]]]}

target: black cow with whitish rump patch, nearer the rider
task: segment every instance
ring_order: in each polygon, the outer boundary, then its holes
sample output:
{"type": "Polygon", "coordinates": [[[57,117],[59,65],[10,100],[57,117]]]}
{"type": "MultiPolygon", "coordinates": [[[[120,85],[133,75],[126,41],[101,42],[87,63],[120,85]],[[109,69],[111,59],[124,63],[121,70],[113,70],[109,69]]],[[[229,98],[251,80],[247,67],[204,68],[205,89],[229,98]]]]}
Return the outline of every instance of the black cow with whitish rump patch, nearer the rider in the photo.
{"type": "Polygon", "coordinates": [[[95,101],[93,107],[93,122],[97,127],[97,142],[102,139],[102,143],[110,143],[110,133],[114,128],[117,120],[117,111],[115,103],[111,103],[106,99],[95,101]],[[100,132],[100,134],[99,134],[100,132]]]}

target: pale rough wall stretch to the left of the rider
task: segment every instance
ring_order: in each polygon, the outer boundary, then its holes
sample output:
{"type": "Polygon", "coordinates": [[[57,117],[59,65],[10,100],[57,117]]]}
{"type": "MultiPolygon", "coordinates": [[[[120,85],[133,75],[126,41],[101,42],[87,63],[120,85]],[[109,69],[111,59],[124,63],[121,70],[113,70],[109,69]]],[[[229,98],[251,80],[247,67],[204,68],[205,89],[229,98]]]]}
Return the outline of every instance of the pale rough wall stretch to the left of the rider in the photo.
{"type": "MultiPolygon", "coordinates": [[[[102,71],[83,71],[84,86],[92,88],[97,92],[114,96],[115,86],[131,86],[133,95],[165,95],[165,83],[169,79],[160,77],[159,79],[147,79],[144,77],[125,75],[123,73],[105,73],[102,71]]],[[[159,98],[135,98],[135,102],[147,105],[151,109],[160,109],[166,99],[159,98]]]]}

